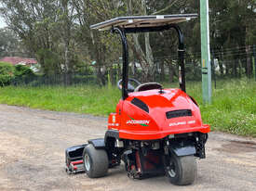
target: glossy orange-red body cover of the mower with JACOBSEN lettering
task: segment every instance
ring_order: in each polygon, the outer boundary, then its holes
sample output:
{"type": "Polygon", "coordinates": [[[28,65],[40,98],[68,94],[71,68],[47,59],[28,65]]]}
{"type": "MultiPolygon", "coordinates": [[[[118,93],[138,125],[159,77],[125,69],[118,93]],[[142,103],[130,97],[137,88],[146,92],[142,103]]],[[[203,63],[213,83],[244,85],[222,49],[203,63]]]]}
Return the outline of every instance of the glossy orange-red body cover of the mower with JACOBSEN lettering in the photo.
{"type": "Polygon", "coordinates": [[[169,134],[207,134],[210,131],[209,125],[202,123],[199,108],[180,89],[164,89],[164,94],[156,89],[130,93],[126,100],[119,101],[108,123],[108,129],[117,130],[120,138],[130,140],[155,140],[169,134]],[[131,103],[135,97],[148,106],[149,112],[131,103]],[[180,109],[190,109],[192,116],[167,118],[168,111],[180,109]]]}

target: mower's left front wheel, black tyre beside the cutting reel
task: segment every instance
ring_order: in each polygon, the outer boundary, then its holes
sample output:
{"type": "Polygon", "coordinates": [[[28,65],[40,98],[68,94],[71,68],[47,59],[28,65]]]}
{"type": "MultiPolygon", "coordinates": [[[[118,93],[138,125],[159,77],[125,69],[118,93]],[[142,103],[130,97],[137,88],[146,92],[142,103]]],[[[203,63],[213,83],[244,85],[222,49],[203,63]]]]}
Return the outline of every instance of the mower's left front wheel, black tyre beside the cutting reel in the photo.
{"type": "Polygon", "coordinates": [[[85,172],[89,178],[100,178],[108,172],[108,155],[103,149],[96,149],[89,144],[83,152],[85,172]]]}

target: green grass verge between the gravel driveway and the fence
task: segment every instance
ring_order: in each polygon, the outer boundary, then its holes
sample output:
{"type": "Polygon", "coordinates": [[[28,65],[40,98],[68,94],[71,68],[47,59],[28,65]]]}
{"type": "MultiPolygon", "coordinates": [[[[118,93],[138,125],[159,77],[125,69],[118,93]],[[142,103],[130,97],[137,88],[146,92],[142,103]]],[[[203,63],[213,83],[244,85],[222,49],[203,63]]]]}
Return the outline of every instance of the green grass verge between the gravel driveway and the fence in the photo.
{"type": "MultiPolygon", "coordinates": [[[[171,87],[165,84],[165,87],[171,87]]],[[[212,105],[202,104],[201,83],[187,83],[187,93],[198,102],[202,118],[212,130],[256,137],[256,83],[217,82],[212,105]]],[[[121,92],[116,87],[0,87],[0,103],[56,111],[107,116],[115,111],[121,92]]]]}

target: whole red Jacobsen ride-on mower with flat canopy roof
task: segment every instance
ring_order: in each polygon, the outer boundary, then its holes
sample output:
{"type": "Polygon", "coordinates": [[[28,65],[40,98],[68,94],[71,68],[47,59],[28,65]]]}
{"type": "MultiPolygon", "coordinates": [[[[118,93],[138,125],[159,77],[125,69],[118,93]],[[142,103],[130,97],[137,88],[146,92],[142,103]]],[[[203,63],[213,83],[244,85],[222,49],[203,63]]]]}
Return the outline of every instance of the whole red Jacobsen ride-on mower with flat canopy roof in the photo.
{"type": "Polygon", "coordinates": [[[109,116],[104,138],[66,149],[67,172],[85,171],[88,177],[98,178],[122,160],[131,178],[166,174],[174,185],[190,185],[195,181],[195,158],[206,157],[209,125],[203,124],[194,98],[185,93],[183,34],[177,23],[196,17],[196,14],[120,17],[91,26],[121,36],[123,75],[117,86],[122,90],[122,98],[115,113],[109,116]],[[129,79],[126,34],[170,29],[179,38],[180,89],[163,89],[159,83],[141,84],[129,79]]]}

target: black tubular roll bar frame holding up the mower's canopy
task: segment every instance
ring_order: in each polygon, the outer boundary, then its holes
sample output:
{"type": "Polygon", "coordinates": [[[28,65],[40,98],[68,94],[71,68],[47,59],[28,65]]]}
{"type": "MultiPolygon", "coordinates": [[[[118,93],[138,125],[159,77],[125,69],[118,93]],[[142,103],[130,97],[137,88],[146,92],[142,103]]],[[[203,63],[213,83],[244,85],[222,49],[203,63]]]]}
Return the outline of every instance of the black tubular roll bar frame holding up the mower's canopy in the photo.
{"type": "Polygon", "coordinates": [[[143,28],[112,28],[112,32],[119,33],[123,45],[123,74],[122,74],[122,98],[125,100],[128,97],[128,42],[126,33],[136,32],[162,32],[169,29],[174,29],[178,33],[178,62],[179,62],[179,83],[183,92],[186,92],[185,83],[185,65],[184,65],[184,38],[180,27],[177,24],[169,24],[158,27],[143,27],[143,28]]]}

